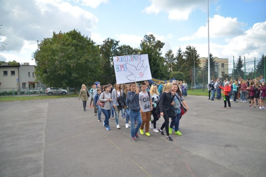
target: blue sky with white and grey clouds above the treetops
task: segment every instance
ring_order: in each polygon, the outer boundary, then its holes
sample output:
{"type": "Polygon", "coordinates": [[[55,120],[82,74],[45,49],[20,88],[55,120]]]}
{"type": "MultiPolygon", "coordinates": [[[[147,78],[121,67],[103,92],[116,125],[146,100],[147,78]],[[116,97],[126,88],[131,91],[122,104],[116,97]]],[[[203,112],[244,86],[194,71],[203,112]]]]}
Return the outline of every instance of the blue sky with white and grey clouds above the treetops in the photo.
{"type": "MultiPolygon", "coordinates": [[[[265,55],[265,7],[265,0],[209,0],[210,53],[229,64],[265,55]]],[[[208,0],[0,0],[0,17],[3,61],[35,65],[37,40],[73,29],[96,44],[110,37],[131,47],[153,34],[165,43],[163,56],[191,45],[208,57],[208,0]]]]}

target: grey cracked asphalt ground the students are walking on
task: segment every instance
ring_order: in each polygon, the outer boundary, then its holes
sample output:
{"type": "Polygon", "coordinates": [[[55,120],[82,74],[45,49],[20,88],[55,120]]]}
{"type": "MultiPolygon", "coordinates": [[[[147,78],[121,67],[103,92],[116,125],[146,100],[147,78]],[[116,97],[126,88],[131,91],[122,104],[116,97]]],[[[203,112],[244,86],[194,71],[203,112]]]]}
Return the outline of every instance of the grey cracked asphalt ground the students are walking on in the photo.
{"type": "Polygon", "coordinates": [[[266,176],[265,110],[185,100],[182,136],[168,141],[150,129],[136,142],[124,118],[107,131],[77,97],[0,103],[0,176],[266,176]]]}

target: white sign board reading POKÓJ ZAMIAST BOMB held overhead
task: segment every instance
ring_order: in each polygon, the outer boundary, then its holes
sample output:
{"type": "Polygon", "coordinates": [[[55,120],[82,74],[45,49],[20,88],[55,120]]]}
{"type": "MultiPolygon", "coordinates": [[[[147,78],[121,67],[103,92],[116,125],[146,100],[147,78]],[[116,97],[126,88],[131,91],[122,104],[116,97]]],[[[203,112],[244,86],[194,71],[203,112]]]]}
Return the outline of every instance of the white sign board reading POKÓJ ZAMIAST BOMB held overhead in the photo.
{"type": "Polygon", "coordinates": [[[148,54],[114,56],[116,83],[130,83],[151,79],[148,54]]]}

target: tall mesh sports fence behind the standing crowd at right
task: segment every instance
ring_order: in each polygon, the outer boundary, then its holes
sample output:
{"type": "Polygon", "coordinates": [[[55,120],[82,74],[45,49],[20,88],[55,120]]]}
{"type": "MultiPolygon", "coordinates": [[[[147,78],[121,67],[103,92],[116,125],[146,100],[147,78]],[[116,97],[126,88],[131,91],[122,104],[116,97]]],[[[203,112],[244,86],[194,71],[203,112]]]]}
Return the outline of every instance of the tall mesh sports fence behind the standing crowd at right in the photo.
{"type": "MultiPolygon", "coordinates": [[[[263,78],[266,78],[265,72],[265,63],[266,57],[263,60],[259,59],[253,60],[244,58],[243,67],[241,69],[236,68],[236,58],[234,58],[233,63],[231,64],[224,64],[224,65],[215,65],[214,67],[210,68],[210,79],[212,78],[220,78],[221,82],[223,83],[224,79],[255,79],[259,78],[260,75],[263,75],[263,78]],[[251,60],[251,61],[247,61],[251,60]],[[261,64],[261,67],[258,69],[258,64],[261,64]]],[[[205,91],[207,89],[208,84],[208,68],[207,67],[200,67],[200,68],[193,68],[192,69],[192,78],[191,78],[191,86],[192,89],[201,89],[205,91]],[[194,73],[195,71],[195,73],[194,73]]]]}

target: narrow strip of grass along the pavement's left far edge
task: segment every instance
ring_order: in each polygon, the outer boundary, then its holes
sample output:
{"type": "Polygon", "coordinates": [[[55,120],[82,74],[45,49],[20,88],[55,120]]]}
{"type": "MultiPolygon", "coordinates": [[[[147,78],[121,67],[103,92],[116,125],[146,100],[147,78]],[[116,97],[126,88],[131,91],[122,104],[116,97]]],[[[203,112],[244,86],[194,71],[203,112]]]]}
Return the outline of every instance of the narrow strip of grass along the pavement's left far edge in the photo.
{"type": "Polygon", "coordinates": [[[69,95],[52,95],[52,96],[2,96],[0,97],[0,102],[7,101],[25,101],[25,100],[40,100],[40,99],[51,99],[51,98],[65,98],[65,97],[78,97],[78,94],[69,94],[69,95]]]}

